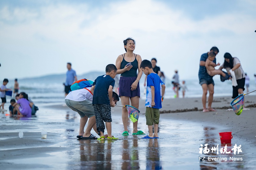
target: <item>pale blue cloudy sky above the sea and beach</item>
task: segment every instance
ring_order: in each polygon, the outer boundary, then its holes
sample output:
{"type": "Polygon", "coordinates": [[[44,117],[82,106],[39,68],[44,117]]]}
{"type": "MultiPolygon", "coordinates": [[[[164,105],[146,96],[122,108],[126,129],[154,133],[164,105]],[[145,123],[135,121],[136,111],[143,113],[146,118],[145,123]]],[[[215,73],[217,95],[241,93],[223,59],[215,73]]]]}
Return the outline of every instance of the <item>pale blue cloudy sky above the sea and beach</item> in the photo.
{"type": "MultiPolygon", "coordinates": [[[[136,41],[142,60],[172,78],[198,78],[200,56],[219,48],[245,72],[256,73],[255,0],[2,0],[0,80],[105,71],[124,54],[123,41],[136,41]]],[[[218,67],[216,67],[217,69],[218,67]]]]}

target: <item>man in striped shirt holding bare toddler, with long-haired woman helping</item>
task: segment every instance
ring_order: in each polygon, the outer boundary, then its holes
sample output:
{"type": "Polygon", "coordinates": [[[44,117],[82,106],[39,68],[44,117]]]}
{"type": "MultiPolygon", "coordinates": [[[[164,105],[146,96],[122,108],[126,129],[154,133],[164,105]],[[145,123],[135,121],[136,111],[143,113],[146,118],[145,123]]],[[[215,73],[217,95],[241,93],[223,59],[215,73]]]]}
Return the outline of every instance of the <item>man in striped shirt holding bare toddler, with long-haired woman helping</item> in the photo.
{"type": "MultiPolygon", "coordinates": [[[[213,76],[219,74],[220,80],[225,81],[227,79],[232,80],[233,95],[232,98],[236,98],[239,94],[244,93],[244,85],[246,81],[246,74],[242,68],[242,65],[237,57],[232,57],[230,53],[224,54],[224,63],[216,64],[215,56],[219,53],[217,47],[212,47],[209,52],[201,55],[200,66],[199,66],[199,83],[203,89],[202,104],[203,112],[215,111],[212,108],[212,100],[214,93],[214,81],[213,76]],[[214,67],[220,65],[218,70],[215,70],[214,67]],[[226,69],[227,72],[222,71],[226,69]],[[208,96],[208,107],[206,107],[206,95],[207,91],[209,92],[208,96]]],[[[249,79],[247,78],[247,85],[249,87],[249,79]]]]}

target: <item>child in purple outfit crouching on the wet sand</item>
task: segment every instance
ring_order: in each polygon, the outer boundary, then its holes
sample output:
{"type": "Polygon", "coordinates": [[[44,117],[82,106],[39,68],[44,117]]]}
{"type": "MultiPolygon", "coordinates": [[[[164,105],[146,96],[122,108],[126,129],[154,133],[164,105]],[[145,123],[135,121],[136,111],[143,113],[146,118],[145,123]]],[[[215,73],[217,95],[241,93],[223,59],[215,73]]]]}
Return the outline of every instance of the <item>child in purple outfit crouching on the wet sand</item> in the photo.
{"type": "Polygon", "coordinates": [[[25,92],[21,92],[19,100],[12,106],[13,111],[18,111],[18,117],[31,117],[31,107],[29,106],[28,95],[25,92]]]}

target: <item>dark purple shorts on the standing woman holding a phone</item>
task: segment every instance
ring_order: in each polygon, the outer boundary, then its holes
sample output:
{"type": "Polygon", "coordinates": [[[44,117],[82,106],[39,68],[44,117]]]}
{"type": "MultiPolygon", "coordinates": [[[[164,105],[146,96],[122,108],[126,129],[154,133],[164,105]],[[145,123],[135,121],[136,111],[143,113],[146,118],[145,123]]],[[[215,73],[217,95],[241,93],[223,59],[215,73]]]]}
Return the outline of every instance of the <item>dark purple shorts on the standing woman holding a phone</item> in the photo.
{"type": "Polygon", "coordinates": [[[119,97],[126,96],[126,97],[140,97],[140,83],[135,90],[131,90],[131,85],[136,80],[137,77],[123,77],[121,76],[119,79],[119,97]]]}

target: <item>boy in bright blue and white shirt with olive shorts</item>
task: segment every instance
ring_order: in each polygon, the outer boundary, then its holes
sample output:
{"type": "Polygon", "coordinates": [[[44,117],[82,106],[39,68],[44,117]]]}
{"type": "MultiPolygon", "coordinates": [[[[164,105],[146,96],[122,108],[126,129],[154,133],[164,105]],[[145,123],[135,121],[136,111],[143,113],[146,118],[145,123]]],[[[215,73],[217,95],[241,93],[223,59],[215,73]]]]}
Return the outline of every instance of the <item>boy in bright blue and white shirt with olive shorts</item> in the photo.
{"type": "Polygon", "coordinates": [[[148,60],[143,60],[140,69],[147,76],[147,94],[146,94],[146,122],[149,134],[143,139],[159,138],[157,134],[159,124],[159,109],[162,108],[164,99],[165,85],[160,77],[153,71],[152,64],[148,60]],[[154,134],[153,134],[154,125],[154,134]]]}

